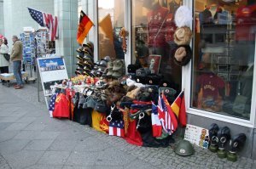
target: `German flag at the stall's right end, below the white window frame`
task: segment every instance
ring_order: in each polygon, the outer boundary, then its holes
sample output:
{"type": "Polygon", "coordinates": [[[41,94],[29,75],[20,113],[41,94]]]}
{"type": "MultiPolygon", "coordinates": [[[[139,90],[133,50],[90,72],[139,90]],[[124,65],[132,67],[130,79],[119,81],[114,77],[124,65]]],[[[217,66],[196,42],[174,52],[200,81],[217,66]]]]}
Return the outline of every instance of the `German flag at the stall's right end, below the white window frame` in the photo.
{"type": "Polygon", "coordinates": [[[177,116],[177,120],[180,122],[182,127],[187,125],[187,113],[184,99],[184,92],[178,94],[177,99],[171,105],[172,111],[177,116]]]}

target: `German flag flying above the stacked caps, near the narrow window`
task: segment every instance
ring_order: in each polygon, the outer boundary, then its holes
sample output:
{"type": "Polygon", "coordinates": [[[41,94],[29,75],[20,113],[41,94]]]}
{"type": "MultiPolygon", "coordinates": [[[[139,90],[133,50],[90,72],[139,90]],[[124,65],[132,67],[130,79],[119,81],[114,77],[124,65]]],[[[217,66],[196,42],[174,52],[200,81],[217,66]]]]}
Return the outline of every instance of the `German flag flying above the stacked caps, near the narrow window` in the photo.
{"type": "Polygon", "coordinates": [[[77,41],[79,44],[83,44],[84,38],[87,36],[90,28],[93,26],[93,22],[88,18],[84,11],[81,10],[80,12],[80,20],[79,20],[79,30],[77,35],[77,41]]]}

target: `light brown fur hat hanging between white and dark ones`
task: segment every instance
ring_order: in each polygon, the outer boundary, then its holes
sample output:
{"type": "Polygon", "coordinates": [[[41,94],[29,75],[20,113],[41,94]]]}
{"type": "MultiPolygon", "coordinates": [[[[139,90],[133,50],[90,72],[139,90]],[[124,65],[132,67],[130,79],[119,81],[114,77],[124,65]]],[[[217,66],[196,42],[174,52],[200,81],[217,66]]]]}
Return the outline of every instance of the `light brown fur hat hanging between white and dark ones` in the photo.
{"type": "Polygon", "coordinates": [[[176,42],[177,45],[189,45],[192,35],[192,31],[189,27],[179,27],[174,32],[174,42],[176,42]]]}

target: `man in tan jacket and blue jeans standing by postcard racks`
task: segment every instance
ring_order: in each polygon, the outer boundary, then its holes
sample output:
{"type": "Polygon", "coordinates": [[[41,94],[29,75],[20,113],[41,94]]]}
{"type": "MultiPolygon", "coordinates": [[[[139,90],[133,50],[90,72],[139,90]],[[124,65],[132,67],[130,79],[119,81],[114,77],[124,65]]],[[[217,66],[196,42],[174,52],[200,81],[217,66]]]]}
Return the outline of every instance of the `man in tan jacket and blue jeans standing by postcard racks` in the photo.
{"type": "Polygon", "coordinates": [[[22,75],[21,75],[21,60],[22,60],[23,46],[22,46],[22,42],[20,42],[17,36],[13,36],[12,40],[14,42],[14,46],[12,48],[10,60],[14,63],[14,75],[17,82],[17,84],[14,87],[15,89],[21,89],[23,88],[23,85],[24,85],[24,83],[22,82],[22,75]]]}

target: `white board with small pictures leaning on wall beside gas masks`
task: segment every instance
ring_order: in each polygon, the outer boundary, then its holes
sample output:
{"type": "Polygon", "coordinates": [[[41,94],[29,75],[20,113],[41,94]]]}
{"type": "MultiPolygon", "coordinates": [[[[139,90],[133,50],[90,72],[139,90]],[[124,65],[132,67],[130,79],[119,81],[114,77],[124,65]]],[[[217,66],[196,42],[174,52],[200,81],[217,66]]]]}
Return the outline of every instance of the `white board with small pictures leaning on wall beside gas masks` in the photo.
{"type": "Polygon", "coordinates": [[[201,148],[208,149],[209,131],[206,128],[187,124],[184,140],[188,140],[191,144],[195,144],[201,148]]]}

